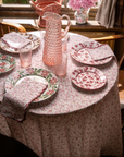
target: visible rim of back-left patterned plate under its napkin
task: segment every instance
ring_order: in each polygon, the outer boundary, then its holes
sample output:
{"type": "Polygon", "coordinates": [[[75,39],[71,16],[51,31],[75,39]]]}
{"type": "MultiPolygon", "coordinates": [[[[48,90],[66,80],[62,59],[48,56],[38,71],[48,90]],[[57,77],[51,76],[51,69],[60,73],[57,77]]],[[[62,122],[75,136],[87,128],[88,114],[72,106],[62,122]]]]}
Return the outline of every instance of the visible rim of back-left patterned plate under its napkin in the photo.
{"type": "MultiPolygon", "coordinates": [[[[33,45],[33,49],[35,50],[36,48],[38,48],[40,46],[40,39],[39,37],[37,37],[34,34],[28,34],[28,33],[18,33],[20,35],[22,35],[23,37],[25,37],[26,39],[32,40],[32,45],[33,45]]],[[[18,39],[20,40],[20,39],[18,39]]],[[[17,41],[17,40],[16,40],[17,41]]],[[[0,46],[3,50],[11,52],[11,53],[20,53],[17,49],[14,48],[10,48],[5,43],[3,43],[2,40],[0,41],[0,46]]]]}

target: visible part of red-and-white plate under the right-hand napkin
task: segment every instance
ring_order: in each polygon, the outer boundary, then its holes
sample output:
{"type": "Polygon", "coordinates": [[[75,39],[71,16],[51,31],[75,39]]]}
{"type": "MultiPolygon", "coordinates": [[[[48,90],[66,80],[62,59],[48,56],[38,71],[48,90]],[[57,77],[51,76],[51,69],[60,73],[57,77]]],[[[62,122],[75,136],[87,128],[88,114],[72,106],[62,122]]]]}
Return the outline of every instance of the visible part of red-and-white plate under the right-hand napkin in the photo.
{"type": "Polygon", "coordinates": [[[109,61],[112,60],[112,57],[108,57],[106,59],[97,60],[97,61],[92,60],[89,52],[84,49],[84,46],[82,45],[82,43],[79,43],[79,44],[75,45],[74,47],[72,47],[71,56],[76,61],[78,61],[80,63],[84,63],[84,64],[88,64],[88,65],[106,64],[106,63],[108,63],[109,61]]]}

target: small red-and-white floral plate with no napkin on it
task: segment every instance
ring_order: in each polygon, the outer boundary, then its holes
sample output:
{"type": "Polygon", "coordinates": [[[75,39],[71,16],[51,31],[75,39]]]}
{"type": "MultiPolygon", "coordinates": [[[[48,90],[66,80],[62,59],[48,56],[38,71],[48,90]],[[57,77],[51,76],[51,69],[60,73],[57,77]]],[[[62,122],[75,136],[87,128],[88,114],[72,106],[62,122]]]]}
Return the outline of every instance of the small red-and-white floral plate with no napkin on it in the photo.
{"type": "Polygon", "coordinates": [[[76,86],[88,90],[99,89],[107,83],[102,71],[92,67],[83,67],[74,70],[71,80],[76,86]]]}

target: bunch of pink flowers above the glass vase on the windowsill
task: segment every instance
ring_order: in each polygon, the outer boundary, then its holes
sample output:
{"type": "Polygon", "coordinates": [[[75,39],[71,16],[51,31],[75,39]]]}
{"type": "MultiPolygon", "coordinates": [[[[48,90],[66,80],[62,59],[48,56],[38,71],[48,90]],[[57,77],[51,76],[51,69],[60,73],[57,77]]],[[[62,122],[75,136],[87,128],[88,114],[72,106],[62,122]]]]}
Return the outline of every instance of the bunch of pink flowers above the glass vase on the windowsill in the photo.
{"type": "Polygon", "coordinates": [[[95,3],[98,0],[70,0],[69,7],[73,10],[79,10],[80,8],[89,9],[91,7],[95,7],[95,3]]]}

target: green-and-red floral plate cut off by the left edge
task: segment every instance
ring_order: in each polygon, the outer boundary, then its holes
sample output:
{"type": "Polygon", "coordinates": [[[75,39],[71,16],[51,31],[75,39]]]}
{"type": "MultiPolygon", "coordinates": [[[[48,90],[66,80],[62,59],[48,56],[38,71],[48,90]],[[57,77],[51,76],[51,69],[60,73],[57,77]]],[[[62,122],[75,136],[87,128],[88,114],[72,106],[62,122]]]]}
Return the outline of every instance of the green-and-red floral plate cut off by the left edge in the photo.
{"type": "Polygon", "coordinates": [[[15,67],[15,59],[11,56],[0,53],[0,74],[12,70],[15,67]]]}

